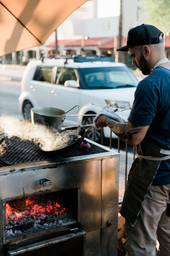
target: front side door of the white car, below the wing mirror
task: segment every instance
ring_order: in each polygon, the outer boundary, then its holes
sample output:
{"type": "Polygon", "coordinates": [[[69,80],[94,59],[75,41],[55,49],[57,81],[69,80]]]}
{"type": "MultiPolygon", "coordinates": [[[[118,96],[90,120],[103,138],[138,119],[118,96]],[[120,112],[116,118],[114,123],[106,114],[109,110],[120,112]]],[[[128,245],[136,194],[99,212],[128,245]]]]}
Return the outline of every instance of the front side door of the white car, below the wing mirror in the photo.
{"type": "MultiPolygon", "coordinates": [[[[74,69],[57,68],[56,71],[56,83],[53,84],[51,91],[51,101],[53,108],[61,109],[67,112],[75,105],[79,105],[80,93],[79,88],[64,86],[65,81],[75,80],[77,81],[78,74],[74,69]]],[[[71,110],[68,115],[77,114],[77,108],[71,110]]],[[[74,126],[78,124],[78,117],[66,117],[64,121],[65,126],[74,126]]]]}

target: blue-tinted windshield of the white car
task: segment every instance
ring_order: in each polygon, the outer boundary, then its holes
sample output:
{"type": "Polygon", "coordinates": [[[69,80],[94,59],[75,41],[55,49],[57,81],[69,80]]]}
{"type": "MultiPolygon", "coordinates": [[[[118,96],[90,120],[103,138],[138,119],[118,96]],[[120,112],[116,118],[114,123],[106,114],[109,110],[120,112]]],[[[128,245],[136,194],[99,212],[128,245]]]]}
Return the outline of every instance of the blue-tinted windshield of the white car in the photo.
{"type": "Polygon", "coordinates": [[[136,87],[138,82],[127,67],[80,69],[88,89],[136,87]]]}

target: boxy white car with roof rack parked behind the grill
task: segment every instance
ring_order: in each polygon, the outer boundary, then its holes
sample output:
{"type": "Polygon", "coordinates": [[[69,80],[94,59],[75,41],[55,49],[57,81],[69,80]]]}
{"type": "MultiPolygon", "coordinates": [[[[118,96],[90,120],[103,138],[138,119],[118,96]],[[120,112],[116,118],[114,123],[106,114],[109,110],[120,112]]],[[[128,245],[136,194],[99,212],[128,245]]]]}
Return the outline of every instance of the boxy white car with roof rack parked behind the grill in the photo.
{"type": "MultiPolygon", "coordinates": [[[[19,109],[25,119],[31,118],[35,106],[48,106],[67,112],[79,105],[78,114],[96,114],[110,104],[110,108],[128,109],[133,104],[137,79],[123,63],[111,58],[75,58],[58,60],[32,60],[23,73],[19,109]],[[100,106],[95,106],[100,105],[100,106]]],[[[76,114],[73,109],[68,114],[76,114]]],[[[127,120],[130,110],[118,114],[127,120]]],[[[91,124],[94,117],[66,117],[63,126],[91,124]]],[[[104,128],[110,137],[110,129],[104,128]]],[[[87,135],[91,138],[91,134],[87,135]]],[[[112,133],[112,137],[116,136],[112,133]]],[[[95,130],[94,140],[99,142],[101,131],[95,130]]]]}

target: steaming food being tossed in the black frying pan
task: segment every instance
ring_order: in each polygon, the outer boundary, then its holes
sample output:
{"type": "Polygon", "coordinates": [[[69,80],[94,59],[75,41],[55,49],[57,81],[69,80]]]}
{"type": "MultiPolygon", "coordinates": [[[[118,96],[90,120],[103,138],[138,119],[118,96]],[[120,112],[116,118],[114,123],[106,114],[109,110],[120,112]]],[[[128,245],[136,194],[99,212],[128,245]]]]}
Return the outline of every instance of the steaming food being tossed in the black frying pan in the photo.
{"type": "MultiPolygon", "coordinates": [[[[13,136],[20,140],[30,140],[38,144],[43,151],[56,151],[71,145],[82,138],[83,130],[78,127],[74,130],[58,132],[45,125],[33,125],[28,120],[20,121],[15,117],[0,117],[0,132],[6,132],[8,138],[13,136]]],[[[4,143],[4,142],[3,142],[4,143]]],[[[5,154],[3,144],[0,145],[0,155],[5,154]],[[2,148],[2,150],[1,150],[2,148]]]]}

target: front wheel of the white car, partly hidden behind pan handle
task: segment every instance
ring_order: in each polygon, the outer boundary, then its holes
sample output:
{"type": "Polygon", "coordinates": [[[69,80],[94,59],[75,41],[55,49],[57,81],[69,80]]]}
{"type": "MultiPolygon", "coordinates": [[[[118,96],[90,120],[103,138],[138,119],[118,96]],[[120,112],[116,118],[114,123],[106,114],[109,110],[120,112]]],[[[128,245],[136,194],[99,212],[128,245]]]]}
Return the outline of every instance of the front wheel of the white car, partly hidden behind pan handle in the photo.
{"type": "MultiPolygon", "coordinates": [[[[86,115],[87,114],[92,115],[92,114],[95,114],[95,113],[94,112],[88,112],[88,113],[86,113],[86,115]]],[[[93,116],[85,116],[84,119],[83,119],[82,124],[83,125],[92,124],[93,119],[94,119],[93,116]]],[[[86,133],[86,138],[89,139],[89,140],[92,140],[92,131],[93,130],[90,129],[89,132],[86,133]]],[[[101,142],[101,130],[94,130],[94,142],[97,142],[97,143],[101,142]]]]}

